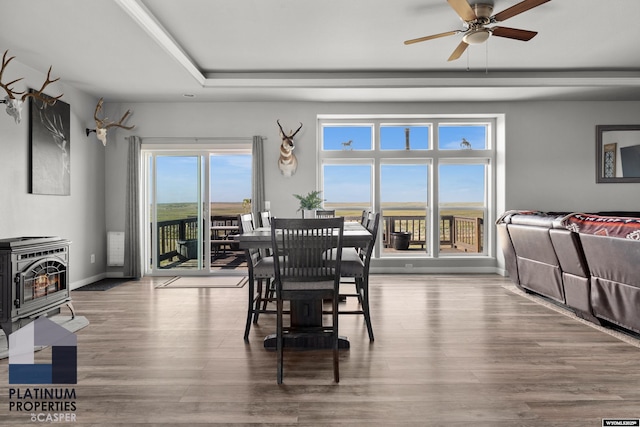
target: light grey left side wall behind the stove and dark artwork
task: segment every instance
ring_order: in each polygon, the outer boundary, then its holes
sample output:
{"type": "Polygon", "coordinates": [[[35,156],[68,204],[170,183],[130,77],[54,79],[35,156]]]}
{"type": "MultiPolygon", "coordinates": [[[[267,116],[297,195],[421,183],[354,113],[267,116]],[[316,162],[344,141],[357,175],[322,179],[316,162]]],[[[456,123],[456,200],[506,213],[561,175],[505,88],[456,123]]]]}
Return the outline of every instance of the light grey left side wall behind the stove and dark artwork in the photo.
{"type": "MultiPolygon", "coordinates": [[[[52,75],[56,77],[55,67],[52,75]]],[[[39,88],[46,74],[13,60],[4,79],[19,77],[24,80],[14,89],[22,91],[39,88]]],[[[71,106],[70,196],[29,193],[28,103],[20,124],[0,105],[0,238],[60,236],[71,240],[69,280],[73,288],[105,272],[104,147],[95,137],[85,135],[85,128],[93,123],[97,100],[60,82],[45,90],[54,96],[61,92],[62,100],[71,106]],[[93,264],[91,254],[96,256],[93,264]]]]}

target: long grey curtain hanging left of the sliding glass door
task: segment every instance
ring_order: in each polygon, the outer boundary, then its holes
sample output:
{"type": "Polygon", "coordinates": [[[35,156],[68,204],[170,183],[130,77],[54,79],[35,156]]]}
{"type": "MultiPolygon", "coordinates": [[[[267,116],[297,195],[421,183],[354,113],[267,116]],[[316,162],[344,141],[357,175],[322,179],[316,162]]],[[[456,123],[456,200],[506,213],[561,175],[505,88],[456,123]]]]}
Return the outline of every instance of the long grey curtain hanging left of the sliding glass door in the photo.
{"type": "Polygon", "coordinates": [[[140,254],[140,146],[137,136],[130,136],[127,159],[127,200],[125,203],[124,276],[142,277],[140,254]]]}

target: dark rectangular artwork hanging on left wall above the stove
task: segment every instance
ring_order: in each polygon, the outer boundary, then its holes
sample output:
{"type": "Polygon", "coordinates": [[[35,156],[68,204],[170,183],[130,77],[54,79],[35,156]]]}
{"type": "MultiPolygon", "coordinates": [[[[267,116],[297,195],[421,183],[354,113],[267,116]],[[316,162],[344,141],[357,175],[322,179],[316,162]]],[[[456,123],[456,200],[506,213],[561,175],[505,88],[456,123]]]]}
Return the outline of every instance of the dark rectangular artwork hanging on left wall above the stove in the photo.
{"type": "Polygon", "coordinates": [[[49,105],[29,97],[32,194],[71,194],[70,121],[71,108],[66,102],[57,100],[49,105]]]}

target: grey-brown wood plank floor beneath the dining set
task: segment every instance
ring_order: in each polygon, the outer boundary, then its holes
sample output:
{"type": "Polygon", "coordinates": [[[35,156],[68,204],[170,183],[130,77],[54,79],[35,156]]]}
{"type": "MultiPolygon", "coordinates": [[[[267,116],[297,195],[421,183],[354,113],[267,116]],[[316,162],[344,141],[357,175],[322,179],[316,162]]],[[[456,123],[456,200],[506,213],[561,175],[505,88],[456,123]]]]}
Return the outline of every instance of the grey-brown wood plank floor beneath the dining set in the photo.
{"type": "MultiPolygon", "coordinates": [[[[156,281],[159,279],[155,279],[156,281]]],[[[276,384],[263,316],[242,339],[247,288],[155,289],[145,278],[72,292],[74,425],[600,426],[640,417],[640,349],[505,290],[494,275],[376,275],[376,341],[341,318],[351,349],[289,352],[276,384]]],[[[0,424],[9,411],[0,361],[0,424]]],[[[20,386],[25,388],[26,386],[20,386]]]]}

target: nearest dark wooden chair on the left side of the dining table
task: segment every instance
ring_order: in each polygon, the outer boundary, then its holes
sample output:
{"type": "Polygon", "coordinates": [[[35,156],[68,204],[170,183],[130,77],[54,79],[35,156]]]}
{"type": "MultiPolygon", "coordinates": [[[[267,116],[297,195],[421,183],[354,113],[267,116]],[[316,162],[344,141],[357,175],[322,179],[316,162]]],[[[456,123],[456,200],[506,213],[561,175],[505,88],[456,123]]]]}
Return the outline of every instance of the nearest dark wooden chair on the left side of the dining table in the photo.
{"type": "MultiPolygon", "coordinates": [[[[238,226],[240,233],[253,231],[253,215],[250,213],[238,215],[238,226]]],[[[252,318],[253,323],[258,323],[258,316],[260,315],[260,313],[275,314],[275,310],[268,310],[266,308],[266,304],[263,304],[268,289],[271,286],[271,280],[274,278],[275,274],[273,257],[263,256],[260,250],[257,248],[247,248],[245,249],[244,253],[247,259],[247,270],[249,273],[247,322],[244,328],[244,339],[245,341],[248,341],[252,318]],[[266,282],[264,288],[263,282],[266,282]]]]}

